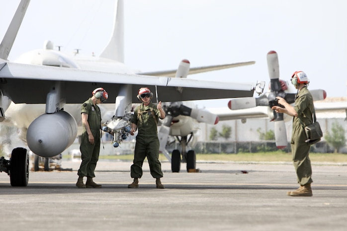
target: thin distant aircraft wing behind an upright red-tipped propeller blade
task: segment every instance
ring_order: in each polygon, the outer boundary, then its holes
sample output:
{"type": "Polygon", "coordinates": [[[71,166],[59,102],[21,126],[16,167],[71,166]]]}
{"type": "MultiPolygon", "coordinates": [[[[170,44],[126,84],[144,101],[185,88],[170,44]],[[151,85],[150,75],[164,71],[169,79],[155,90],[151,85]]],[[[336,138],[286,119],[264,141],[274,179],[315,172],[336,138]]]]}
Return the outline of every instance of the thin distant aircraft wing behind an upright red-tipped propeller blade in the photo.
{"type": "MultiPolygon", "coordinates": [[[[206,66],[206,67],[197,67],[197,68],[190,68],[188,75],[193,74],[199,74],[204,72],[211,72],[211,71],[217,71],[227,68],[235,68],[235,67],[241,67],[241,66],[247,66],[251,64],[255,64],[256,62],[250,61],[250,62],[241,62],[241,63],[234,63],[234,64],[223,64],[223,65],[214,65],[214,66],[206,66]]],[[[144,72],[144,73],[137,73],[139,75],[149,75],[149,76],[167,76],[167,77],[175,77],[177,70],[170,70],[170,71],[158,71],[158,72],[144,72]]]]}

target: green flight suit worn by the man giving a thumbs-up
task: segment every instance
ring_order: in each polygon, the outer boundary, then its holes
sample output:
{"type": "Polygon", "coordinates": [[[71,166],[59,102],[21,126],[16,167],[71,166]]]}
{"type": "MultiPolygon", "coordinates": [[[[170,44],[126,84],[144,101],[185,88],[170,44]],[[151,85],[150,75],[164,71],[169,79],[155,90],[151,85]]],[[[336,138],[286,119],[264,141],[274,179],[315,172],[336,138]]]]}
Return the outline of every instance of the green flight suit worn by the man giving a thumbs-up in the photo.
{"type": "Polygon", "coordinates": [[[143,161],[147,157],[153,178],[163,177],[162,165],[159,161],[159,139],[157,123],[160,111],[152,102],[148,106],[141,103],[135,108],[130,119],[131,123],[137,125],[135,152],[133,164],[130,167],[131,178],[141,178],[143,161]],[[140,110],[140,113],[138,113],[140,110]],[[152,112],[153,111],[153,112],[152,112]],[[138,118],[139,117],[139,118],[138,118]]]}

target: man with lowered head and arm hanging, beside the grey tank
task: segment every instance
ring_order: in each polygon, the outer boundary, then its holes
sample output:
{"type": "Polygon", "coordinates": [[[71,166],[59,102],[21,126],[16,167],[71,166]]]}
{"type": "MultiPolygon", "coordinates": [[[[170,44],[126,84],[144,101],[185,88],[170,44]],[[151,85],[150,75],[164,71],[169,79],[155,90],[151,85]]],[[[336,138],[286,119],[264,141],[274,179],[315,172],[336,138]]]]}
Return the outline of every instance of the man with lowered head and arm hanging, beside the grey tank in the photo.
{"type": "Polygon", "coordinates": [[[76,183],[78,188],[101,188],[100,184],[93,181],[101,141],[101,113],[97,104],[104,102],[107,98],[107,92],[99,87],[93,90],[92,96],[81,106],[83,133],[80,151],[82,162],[77,173],[79,175],[76,183]],[[86,184],[83,183],[84,176],[87,176],[86,184]]]}

